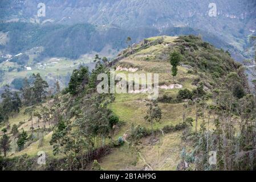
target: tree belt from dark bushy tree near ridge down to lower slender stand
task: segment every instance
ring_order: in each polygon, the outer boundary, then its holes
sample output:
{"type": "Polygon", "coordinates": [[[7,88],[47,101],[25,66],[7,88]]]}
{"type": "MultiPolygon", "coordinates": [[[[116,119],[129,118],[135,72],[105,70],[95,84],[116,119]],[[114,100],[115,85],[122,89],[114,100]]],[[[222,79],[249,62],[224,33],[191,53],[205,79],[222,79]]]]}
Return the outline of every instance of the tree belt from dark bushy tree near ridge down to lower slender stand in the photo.
{"type": "Polygon", "coordinates": [[[74,122],[59,114],[50,140],[53,154],[64,154],[70,170],[84,169],[92,155],[107,145],[107,140],[112,143],[113,132],[119,123],[119,118],[109,109],[115,99],[113,95],[95,92],[97,75],[109,72],[105,66],[107,61],[99,56],[95,58],[97,64],[91,73],[83,66],[72,73],[67,91],[84,101],[79,104],[80,112],[73,115],[74,122]]]}

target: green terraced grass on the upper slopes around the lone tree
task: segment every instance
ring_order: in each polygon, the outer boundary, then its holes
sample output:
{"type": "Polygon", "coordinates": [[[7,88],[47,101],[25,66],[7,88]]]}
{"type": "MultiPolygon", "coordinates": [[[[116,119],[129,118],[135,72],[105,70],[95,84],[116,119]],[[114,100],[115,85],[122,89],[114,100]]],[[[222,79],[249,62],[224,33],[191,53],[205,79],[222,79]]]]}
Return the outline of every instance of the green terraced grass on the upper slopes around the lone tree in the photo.
{"type": "MultiPolygon", "coordinates": [[[[151,38],[150,38],[151,39],[151,38]]],[[[152,40],[157,38],[152,38],[152,40]]],[[[168,41],[172,42],[174,39],[168,37],[168,41]]],[[[154,51],[161,51],[164,46],[157,45],[152,46],[147,49],[143,49],[136,53],[136,55],[152,54],[154,51]]],[[[141,56],[143,57],[143,56],[141,56]]],[[[159,73],[159,85],[169,85],[173,84],[173,77],[170,75],[170,63],[169,61],[144,61],[137,60],[137,57],[129,56],[119,62],[121,67],[127,68],[139,68],[135,73],[159,73]]],[[[192,81],[198,76],[189,75],[188,68],[178,67],[178,75],[174,82],[178,82],[183,85],[182,89],[192,90],[196,86],[192,85],[192,81]]],[[[124,73],[128,78],[128,73],[126,71],[118,71],[117,73],[124,73]]],[[[141,83],[141,81],[140,81],[141,83]]],[[[173,98],[176,98],[177,93],[180,89],[159,89],[159,96],[167,94],[173,98]]],[[[121,132],[129,130],[131,125],[141,125],[150,128],[150,123],[146,122],[144,117],[147,110],[145,104],[147,103],[147,94],[115,94],[116,100],[111,104],[111,109],[116,113],[121,121],[127,123],[125,127],[121,129],[121,132]]],[[[162,129],[166,125],[176,125],[182,122],[182,110],[183,103],[181,104],[159,104],[162,110],[162,119],[160,123],[154,123],[154,129],[162,129]]],[[[122,134],[123,135],[123,134],[122,134]]]]}

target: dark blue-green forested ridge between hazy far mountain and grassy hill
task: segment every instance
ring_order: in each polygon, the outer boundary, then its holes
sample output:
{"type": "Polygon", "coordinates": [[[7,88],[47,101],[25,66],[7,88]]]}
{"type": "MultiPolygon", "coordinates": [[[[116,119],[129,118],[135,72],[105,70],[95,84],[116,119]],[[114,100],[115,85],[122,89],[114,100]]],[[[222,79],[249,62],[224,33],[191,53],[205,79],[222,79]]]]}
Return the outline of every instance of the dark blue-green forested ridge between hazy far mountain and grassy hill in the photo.
{"type": "MultiPolygon", "coordinates": [[[[195,30],[189,27],[157,28],[139,27],[132,30],[117,27],[97,27],[91,24],[31,24],[31,23],[0,23],[0,32],[7,36],[5,44],[1,44],[3,53],[17,55],[34,47],[43,47],[43,57],[68,57],[78,59],[80,55],[90,52],[100,52],[108,46],[119,51],[128,46],[126,39],[132,38],[132,43],[158,35],[201,35],[202,39],[218,48],[224,48],[242,60],[243,52],[209,32],[195,30]]],[[[114,55],[113,55],[114,56],[114,55]]]]}

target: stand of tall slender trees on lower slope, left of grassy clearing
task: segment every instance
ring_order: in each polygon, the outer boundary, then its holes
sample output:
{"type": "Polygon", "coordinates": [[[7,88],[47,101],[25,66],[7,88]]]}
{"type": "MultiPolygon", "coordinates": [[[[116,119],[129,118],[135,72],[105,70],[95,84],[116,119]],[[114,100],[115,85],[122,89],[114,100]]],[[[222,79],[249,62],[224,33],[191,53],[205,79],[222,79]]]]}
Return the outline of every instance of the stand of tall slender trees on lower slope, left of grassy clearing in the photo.
{"type": "Polygon", "coordinates": [[[112,141],[119,118],[103,104],[105,100],[105,96],[96,94],[84,103],[83,114],[73,123],[61,118],[56,125],[50,140],[53,154],[64,154],[70,170],[84,169],[92,154],[106,146],[106,139],[112,141]]]}

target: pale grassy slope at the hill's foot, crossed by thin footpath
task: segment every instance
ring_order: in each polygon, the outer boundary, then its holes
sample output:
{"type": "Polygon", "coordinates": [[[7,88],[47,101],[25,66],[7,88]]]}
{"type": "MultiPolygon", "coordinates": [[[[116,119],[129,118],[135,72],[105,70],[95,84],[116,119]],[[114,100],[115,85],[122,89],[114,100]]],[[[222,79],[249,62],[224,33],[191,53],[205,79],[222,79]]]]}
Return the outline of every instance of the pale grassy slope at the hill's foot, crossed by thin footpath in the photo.
{"type": "MultiPolygon", "coordinates": [[[[134,147],[125,143],[124,146],[113,148],[111,154],[99,160],[104,170],[142,170],[145,162],[153,170],[174,171],[180,162],[180,152],[186,143],[181,140],[182,132],[174,132],[164,136],[153,137],[159,139],[157,143],[151,143],[151,136],[141,140],[141,143],[134,147]],[[144,158],[144,160],[138,154],[144,158]]],[[[191,147],[186,146],[190,152],[191,147]]]]}

